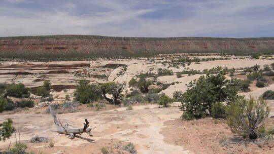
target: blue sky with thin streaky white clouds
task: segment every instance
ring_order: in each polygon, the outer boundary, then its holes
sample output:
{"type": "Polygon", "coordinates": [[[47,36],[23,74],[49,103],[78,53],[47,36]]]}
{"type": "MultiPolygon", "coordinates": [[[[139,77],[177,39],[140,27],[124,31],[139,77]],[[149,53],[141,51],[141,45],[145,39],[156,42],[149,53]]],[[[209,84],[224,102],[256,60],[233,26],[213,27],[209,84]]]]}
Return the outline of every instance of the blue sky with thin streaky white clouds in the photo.
{"type": "Polygon", "coordinates": [[[274,0],[0,0],[0,36],[272,37],[274,0]]]}

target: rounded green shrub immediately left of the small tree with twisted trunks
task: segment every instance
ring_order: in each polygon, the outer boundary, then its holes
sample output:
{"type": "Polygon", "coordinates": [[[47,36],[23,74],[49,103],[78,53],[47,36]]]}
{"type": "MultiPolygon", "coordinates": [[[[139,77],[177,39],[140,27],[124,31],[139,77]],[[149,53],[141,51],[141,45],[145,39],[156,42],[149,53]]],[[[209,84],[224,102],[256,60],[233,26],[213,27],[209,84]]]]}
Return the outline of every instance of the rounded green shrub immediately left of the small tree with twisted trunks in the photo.
{"type": "Polygon", "coordinates": [[[74,96],[76,101],[87,104],[98,100],[101,96],[101,90],[98,85],[90,84],[88,80],[81,80],[76,86],[74,96]]]}

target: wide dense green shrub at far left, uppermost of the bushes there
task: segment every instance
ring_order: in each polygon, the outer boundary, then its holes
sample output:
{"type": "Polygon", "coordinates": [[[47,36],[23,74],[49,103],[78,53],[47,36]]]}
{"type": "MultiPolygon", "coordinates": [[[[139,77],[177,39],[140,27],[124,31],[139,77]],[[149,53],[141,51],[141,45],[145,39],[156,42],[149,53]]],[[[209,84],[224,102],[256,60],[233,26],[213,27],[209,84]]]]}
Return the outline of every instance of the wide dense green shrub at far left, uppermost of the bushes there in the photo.
{"type": "Polygon", "coordinates": [[[13,96],[21,98],[22,96],[29,97],[29,89],[25,88],[22,83],[12,84],[7,87],[7,96],[13,96]]]}

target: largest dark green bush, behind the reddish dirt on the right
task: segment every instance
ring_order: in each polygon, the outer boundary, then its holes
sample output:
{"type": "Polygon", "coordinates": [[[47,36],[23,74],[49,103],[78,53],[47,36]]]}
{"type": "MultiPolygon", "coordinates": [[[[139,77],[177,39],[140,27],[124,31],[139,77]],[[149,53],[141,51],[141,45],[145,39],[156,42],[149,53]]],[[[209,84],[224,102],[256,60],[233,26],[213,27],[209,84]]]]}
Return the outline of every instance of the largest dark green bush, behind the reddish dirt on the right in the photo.
{"type": "Polygon", "coordinates": [[[189,83],[187,91],[180,96],[183,119],[203,118],[211,115],[213,103],[230,103],[241,98],[237,95],[237,80],[226,80],[224,75],[223,71],[216,75],[202,75],[198,80],[189,83]]]}

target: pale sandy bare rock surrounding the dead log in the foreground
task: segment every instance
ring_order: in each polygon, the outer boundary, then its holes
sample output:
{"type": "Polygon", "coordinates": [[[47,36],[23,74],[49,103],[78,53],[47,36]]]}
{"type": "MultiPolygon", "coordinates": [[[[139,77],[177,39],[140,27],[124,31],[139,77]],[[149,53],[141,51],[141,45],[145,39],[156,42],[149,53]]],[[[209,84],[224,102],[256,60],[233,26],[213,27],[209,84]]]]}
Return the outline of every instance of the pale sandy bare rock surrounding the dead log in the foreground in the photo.
{"type": "MultiPolygon", "coordinates": [[[[102,139],[116,139],[132,142],[138,153],[188,153],[181,146],[165,143],[163,141],[164,136],[160,133],[165,121],[180,117],[181,111],[177,107],[178,104],[174,105],[175,107],[169,108],[159,108],[157,105],[140,105],[133,106],[133,110],[119,108],[117,111],[83,111],[58,114],[61,122],[77,128],[83,127],[82,123],[87,118],[90,121],[91,128],[93,128],[92,134],[94,136],[89,137],[87,134],[82,134],[82,137],[86,139],[76,138],[70,140],[66,138],[66,135],[52,132],[55,130],[55,126],[50,114],[3,115],[0,121],[12,118],[14,125],[20,129],[21,140],[28,140],[33,135],[40,135],[53,140],[56,147],[89,146],[93,144],[87,141],[87,138],[94,140],[93,142],[99,142],[102,139]]],[[[14,135],[6,142],[1,142],[0,147],[7,147],[10,141],[15,141],[14,135]]],[[[32,145],[31,149],[45,149],[44,146],[48,145],[32,145]]],[[[44,153],[49,152],[46,150],[44,153]]]]}

